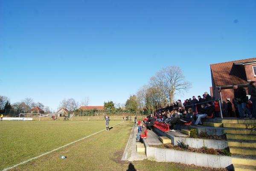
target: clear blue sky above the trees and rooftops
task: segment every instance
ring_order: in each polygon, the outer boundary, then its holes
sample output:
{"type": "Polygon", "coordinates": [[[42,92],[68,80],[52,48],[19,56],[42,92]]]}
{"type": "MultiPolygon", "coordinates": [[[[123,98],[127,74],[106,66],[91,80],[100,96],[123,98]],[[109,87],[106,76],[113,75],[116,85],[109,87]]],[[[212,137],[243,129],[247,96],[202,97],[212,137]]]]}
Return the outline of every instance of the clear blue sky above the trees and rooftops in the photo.
{"type": "Polygon", "coordinates": [[[0,0],[0,95],[125,103],[177,65],[209,91],[209,64],[256,57],[256,0],[0,0]]]}

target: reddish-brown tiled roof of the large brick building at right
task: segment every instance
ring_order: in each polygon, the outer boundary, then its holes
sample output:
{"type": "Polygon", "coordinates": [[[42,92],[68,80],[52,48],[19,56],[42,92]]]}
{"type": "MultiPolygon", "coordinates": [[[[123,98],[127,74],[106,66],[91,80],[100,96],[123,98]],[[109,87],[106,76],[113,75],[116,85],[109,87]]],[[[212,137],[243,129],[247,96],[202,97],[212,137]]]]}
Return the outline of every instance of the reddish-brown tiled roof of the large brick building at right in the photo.
{"type": "Polygon", "coordinates": [[[242,71],[239,66],[234,64],[248,61],[256,61],[256,58],[211,64],[210,67],[215,87],[228,86],[233,84],[247,84],[248,81],[246,78],[246,73],[242,71]]]}

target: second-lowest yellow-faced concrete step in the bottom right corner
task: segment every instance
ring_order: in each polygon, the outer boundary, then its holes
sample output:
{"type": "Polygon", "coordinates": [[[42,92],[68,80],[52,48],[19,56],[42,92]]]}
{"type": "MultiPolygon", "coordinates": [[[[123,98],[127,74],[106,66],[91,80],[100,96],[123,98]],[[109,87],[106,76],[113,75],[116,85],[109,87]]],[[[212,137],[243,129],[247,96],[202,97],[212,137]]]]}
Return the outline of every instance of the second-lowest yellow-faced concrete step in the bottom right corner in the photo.
{"type": "Polygon", "coordinates": [[[256,166],[256,156],[232,155],[232,164],[256,166]]]}

